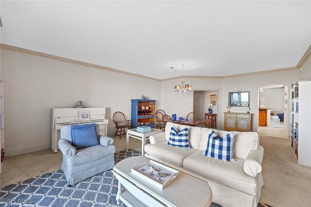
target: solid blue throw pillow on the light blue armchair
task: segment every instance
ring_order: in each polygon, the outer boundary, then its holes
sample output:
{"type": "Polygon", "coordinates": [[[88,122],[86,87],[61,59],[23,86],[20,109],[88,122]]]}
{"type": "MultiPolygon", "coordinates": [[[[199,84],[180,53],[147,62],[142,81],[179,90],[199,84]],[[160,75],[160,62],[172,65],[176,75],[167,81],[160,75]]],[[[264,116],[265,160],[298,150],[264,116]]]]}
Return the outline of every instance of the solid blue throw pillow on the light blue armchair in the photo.
{"type": "Polygon", "coordinates": [[[72,143],[76,149],[99,145],[95,123],[70,127],[72,143]]]}

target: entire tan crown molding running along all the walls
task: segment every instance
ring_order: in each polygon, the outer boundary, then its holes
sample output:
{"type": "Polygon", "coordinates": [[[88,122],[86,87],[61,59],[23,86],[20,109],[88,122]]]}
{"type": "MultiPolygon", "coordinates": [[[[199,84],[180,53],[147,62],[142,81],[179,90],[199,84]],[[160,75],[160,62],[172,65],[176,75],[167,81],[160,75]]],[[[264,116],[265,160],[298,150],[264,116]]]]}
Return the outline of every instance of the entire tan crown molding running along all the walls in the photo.
{"type": "MultiPolygon", "coordinates": [[[[175,80],[175,79],[183,78],[183,76],[178,76],[178,77],[173,77],[173,78],[168,78],[168,79],[162,79],[161,80],[161,79],[156,79],[156,78],[152,78],[152,77],[149,77],[149,76],[139,75],[139,74],[136,74],[136,73],[130,73],[130,72],[122,71],[122,70],[113,69],[113,68],[110,68],[110,67],[105,67],[105,66],[101,66],[101,65],[85,63],[85,62],[82,62],[82,61],[72,60],[72,59],[68,59],[68,58],[63,58],[63,57],[59,57],[59,56],[55,56],[55,55],[50,55],[50,54],[42,53],[42,52],[36,52],[36,51],[33,51],[33,50],[24,49],[24,48],[17,48],[17,47],[14,47],[14,46],[9,46],[9,45],[4,45],[4,44],[0,44],[0,48],[1,49],[12,50],[12,51],[15,51],[15,52],[21,52],[21,53],[36,55],[36,56],[40,56],[40,57],[50,58],[50,59],[53,59],[53,60],[63,61],[63,62],[67,62],[67,63],[84,65],[84,66],[87,66],[87,67],[97,68],[97,69],[101,69],[101,70],[112,71],[112,72],[121,73],[121,74],[125,74],[125,75],[130,75],[130,76],[135,76],[135,77],[139,77],[139,78],[150,79],[150,80],[167,81],[167,80],[175,80]]],[[[280,68],[280,69],[275,69],[275,70],[264,70],[264,71],[258,71],[258,72],[229,75],[229,76],[184,76],[184,78],[225,79],[225,78],[235,78],[235,77],[242,77],[242,76],[252,76],[252,75],[258,75],[258,74],[265,74],[265,73],[274,73],[274,72],[282,72],[282,71],[289,71],[289,70],[297,70],[299,68],[298,66],[304,64],[306,62],[306,60],[310,56],[311,56],[311,46],[309,47],[309,49],[307,50],[305,55],[301,58],[300,62],[297,64],[296,67],[287,67],[287,68],[280,68]]]]}

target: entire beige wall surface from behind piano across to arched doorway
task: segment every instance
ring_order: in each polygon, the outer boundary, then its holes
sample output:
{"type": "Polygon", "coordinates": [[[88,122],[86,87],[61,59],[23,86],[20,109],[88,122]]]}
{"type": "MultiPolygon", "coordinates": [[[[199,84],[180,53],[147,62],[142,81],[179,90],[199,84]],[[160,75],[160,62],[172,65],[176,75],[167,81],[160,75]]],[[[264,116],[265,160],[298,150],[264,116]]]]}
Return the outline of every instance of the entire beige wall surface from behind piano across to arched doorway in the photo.
{"type": "MultiPolygon", "coordinates": [[[[131,101],[142,94],[156,99],[156,109],[185,117],[192,111],[193,93],[176,95],[173,87],[181,79],[157,81],[71,64],[1,49],[1,78],[5,84],[5,146],[12,154],[49,148],[51,109],[73,107],[83,100],[88,107],[107,107],[108,134],[115,132],[112,114],[123,111],[130,118],[131,101]]],[[[272,83],[290,86],[299,79],[298,70],[225,79],[187,78],[195,90],[218,91],[218,128],[223,128],[228,93],[242,88],[250,92],[253,131],[258,125],[258,88],[272,83]]],[[[232,107],[231,111],[246,112],[232,107]]]]}

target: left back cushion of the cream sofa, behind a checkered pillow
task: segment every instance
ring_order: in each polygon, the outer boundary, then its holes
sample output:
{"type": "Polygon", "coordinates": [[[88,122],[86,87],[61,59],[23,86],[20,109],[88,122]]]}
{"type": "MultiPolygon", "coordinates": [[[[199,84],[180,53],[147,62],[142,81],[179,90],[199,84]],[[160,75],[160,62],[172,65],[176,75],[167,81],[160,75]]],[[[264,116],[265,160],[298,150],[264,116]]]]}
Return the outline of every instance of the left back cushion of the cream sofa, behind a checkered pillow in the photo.
{"type": "MultiPolygon", "coordinates": [[[[171,127],[174,126],[178,131],[183,129],[185,125],[180,125],[172,122],[166,123],[165,126],[165,138],[168,141],[170,139],[170,133],[171,133],[171,127]]],[[[189,133],[189,145],[190,148],[198,149],[201,139],[201,127],[188,127],[188,133],[189,133]]],[[[206,147],[207,145],[205,145],[206,147]]],[[[206,149],[206,148],[205,148],[206,149]]]]}

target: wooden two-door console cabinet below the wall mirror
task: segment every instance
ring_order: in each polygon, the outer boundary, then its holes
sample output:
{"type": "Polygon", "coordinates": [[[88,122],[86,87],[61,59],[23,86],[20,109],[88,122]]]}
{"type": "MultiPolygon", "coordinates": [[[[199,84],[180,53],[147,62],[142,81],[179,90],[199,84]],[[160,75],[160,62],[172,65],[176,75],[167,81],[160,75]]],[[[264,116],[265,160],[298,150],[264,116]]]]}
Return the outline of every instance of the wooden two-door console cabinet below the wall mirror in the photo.
{"type": "Polygon", "coordinates": [[[252,114],[240,112],[225,113],[225,130],[227,131],[252,131],[252,114]]]}

